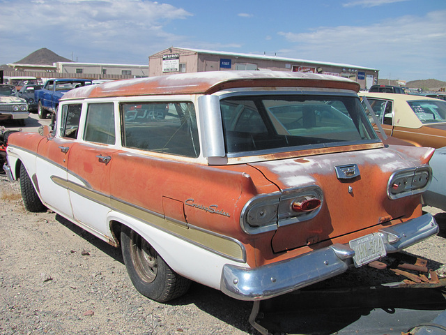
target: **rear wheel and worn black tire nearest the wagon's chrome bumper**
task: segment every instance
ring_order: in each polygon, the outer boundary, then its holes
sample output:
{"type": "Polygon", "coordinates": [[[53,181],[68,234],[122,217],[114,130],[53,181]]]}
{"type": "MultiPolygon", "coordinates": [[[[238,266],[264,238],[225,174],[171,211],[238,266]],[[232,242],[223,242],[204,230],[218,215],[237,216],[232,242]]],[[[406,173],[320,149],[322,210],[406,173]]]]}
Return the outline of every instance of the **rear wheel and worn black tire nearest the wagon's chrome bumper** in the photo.
{"type": "Polygon", "coordinates": [[[172,270],[144,238],[125,226],[121,248],[130,279],[141,295],[165,302],[189,290],[190,280],[172,270]]]}

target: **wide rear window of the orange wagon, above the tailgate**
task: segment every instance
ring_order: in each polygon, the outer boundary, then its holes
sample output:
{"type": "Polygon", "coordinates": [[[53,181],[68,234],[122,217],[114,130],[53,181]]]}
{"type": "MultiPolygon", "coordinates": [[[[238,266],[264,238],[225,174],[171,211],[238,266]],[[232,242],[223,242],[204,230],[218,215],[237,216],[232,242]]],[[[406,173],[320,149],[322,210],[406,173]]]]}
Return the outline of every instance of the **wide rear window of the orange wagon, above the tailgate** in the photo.
{"type": "Polygon", "coordinates": [[[220,107],[229,154],[378,140],[354,96],[243,96],[220,107]]]}

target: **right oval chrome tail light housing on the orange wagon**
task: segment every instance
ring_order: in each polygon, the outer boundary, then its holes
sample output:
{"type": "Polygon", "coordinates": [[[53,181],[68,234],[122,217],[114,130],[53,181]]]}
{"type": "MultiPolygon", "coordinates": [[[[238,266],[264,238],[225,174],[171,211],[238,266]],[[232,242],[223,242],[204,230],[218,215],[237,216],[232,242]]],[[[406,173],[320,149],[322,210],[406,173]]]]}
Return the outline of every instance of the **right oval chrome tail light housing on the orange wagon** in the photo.
{"type": "Polygon", "coordinates": [[[432,170],[428,165],[394,172],[387,183],[387,196],[399,199],[426,191],[431,183],[432,170]]]}

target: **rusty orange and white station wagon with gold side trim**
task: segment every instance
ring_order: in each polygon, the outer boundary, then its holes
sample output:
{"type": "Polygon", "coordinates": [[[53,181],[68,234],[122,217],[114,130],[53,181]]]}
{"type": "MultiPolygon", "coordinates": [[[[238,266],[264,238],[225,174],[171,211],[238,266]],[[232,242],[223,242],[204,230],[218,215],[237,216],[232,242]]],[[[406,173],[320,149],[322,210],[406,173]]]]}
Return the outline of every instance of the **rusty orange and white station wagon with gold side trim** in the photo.
{"type": "Polygon", "coordinates": [[[420,204],[433,149],[385,146],[358,90],[273,71],[82,87],[54,133],[10,135],[5,168],[26,209],[120,246],[146,297],[192,280],[268,299],[438,232],[420,204]]]}

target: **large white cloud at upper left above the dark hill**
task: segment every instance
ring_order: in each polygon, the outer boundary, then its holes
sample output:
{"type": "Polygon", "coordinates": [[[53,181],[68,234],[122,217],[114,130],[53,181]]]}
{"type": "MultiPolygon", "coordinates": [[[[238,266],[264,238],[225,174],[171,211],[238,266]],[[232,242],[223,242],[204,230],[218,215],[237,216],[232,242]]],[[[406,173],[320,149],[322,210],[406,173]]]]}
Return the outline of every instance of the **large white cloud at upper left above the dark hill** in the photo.
{"type": "Polygon", "coordinates": [[[0,2],[1,45],[22,49],[26,45],[30,52],[40,47],[56,53],[57,49],[74,50],[81,56],[79,61],[100,61],[113,54],[113,59],[125,62],[132,61],[129,56],[133,55],[133,63],[146,64],[149,50],[156,52],[183,40],[165,30],[169,22],[192,16],[183,8],[144,0],[0,2]]]}

